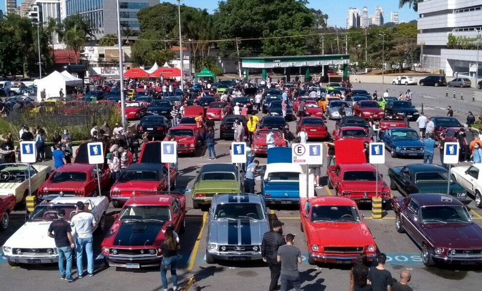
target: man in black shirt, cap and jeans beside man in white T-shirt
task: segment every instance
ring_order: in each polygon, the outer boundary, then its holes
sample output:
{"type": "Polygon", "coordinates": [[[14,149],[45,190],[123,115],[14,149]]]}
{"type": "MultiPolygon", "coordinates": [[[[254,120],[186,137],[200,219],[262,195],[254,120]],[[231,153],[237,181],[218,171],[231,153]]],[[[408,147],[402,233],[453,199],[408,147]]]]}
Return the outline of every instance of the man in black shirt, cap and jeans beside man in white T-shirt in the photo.
{"type": "Polygon", "coordinates": [[[64,220],[65,210],[57,211],[57,218],[50,223],[47,236],[53,237],[58,253],[58,271],[60,280],[73,282],[72,278],[72,251],[74,248],[74,238],[69,222],[64,220]],[[53,233],[53,234],[52,234],[53,233]]]}

